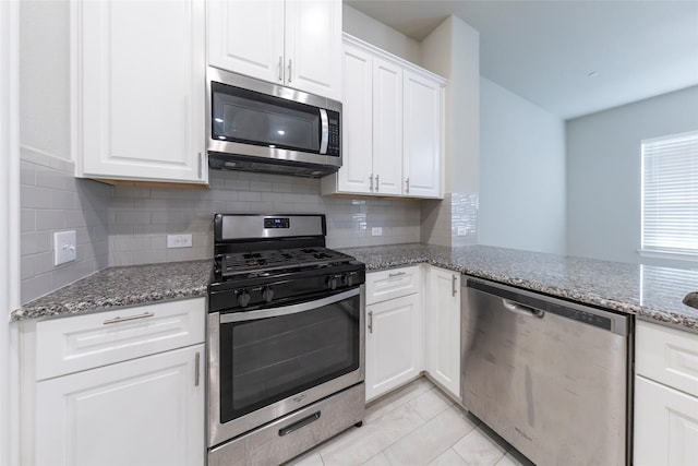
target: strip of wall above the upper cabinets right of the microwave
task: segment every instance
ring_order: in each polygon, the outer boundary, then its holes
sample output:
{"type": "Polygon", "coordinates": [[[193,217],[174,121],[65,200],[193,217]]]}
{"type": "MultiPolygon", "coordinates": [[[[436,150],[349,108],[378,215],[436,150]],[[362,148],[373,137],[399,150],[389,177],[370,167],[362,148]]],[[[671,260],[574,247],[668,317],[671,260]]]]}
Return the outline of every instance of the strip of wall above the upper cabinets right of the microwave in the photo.
{"type": "Polygon", "coordinates": [[[346,3],[342,3],[341,23],[341,28],[345,33],[419,64],[420,46],[417,40],[386,26],[359,10],[354,10],[346,3]]]}

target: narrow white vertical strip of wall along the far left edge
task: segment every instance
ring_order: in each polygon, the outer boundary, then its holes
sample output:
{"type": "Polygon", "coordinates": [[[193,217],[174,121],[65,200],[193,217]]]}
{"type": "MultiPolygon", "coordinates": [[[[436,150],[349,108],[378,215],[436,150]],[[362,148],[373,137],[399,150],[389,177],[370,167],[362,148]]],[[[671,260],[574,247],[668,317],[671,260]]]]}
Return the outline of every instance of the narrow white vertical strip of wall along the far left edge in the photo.
{"type": "Polygon", "coordinates": [[[0,465],[16,463],[8,315],[19,303],[17,23],[16,2],[0,2],[0,465]]]}

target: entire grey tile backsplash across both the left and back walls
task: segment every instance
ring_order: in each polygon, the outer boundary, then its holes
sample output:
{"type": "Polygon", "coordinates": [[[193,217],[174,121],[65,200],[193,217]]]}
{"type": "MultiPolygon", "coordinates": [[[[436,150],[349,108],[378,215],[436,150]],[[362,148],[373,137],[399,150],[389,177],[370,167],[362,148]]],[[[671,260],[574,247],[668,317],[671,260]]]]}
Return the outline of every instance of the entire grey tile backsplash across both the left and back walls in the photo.
{"type": "Polygon", "coordinates": [[[210,189],[111,187],[73,177],[69,160],[23,151],[22,302],[107,266],[213,256],[214,213],[323,213],[327,246],[420,241],[420,202],[320,195],[320,180],[210,171],[210,189]],[[382,236],[372,236],[382,227],[382,236]],[[53,232],[77,232],[77,260],[53,266],[53,232]],[[192,248],[168,249],[167,235],[191,234],[192,248]]]}

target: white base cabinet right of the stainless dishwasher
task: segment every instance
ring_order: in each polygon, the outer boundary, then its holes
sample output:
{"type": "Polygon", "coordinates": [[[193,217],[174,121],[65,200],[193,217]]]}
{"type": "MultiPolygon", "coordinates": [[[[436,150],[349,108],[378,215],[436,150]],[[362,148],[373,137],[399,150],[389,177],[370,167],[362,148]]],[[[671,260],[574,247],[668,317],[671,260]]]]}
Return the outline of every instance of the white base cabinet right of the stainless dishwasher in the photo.
{"type": "Polygon", "coordinates": [[[636,330],[634,464],[698,464],[698,335],[636,330]]]}

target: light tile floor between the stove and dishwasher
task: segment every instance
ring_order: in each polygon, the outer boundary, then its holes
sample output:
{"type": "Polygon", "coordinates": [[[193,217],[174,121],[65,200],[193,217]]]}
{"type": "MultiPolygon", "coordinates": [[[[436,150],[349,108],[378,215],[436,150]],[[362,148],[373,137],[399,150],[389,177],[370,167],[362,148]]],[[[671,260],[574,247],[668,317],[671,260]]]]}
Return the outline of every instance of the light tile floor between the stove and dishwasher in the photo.
{"type": "Polygon", "coordinates": [[[366,407],[351,428],[287,466],[531,466],[424,378],[366,407]]]}

